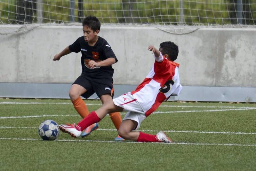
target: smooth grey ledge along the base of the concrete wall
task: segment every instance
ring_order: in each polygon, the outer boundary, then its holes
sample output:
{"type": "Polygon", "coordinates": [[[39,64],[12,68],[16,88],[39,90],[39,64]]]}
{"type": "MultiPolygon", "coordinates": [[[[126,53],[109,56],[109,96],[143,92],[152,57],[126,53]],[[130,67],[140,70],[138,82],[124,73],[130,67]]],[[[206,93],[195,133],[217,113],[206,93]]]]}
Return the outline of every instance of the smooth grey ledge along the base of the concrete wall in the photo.
{"type": "MultiPolygon", "coordinates": [[[[0,82],[0,97],[68,99],[71,83],[0,82]]],[[[134,90],[137,85],[115,85],[114,97],[134,90]]],[[[93,94],[89,99],[98,99],[93,94]]],[[[181,94],[170,101],[256,102],[256,87],[183,86],[181,94]]]]}

